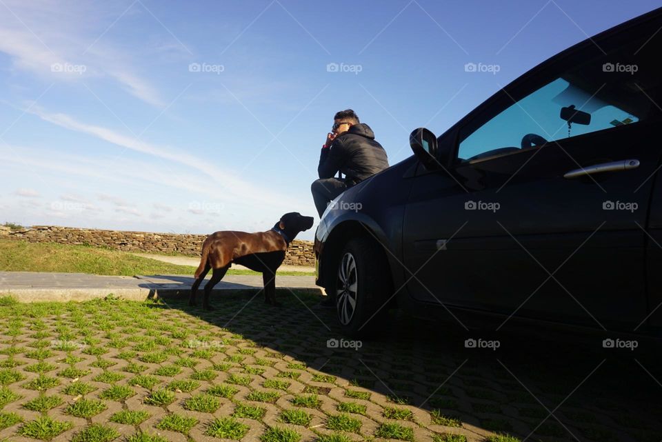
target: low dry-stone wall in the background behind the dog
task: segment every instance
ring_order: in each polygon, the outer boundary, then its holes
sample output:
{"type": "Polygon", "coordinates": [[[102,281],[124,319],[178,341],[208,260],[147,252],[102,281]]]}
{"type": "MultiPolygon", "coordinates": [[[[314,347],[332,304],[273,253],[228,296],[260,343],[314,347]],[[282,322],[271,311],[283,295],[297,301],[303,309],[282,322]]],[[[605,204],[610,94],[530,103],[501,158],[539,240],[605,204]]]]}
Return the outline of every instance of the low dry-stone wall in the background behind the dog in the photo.
{"type": "MultiPolygon", "coordinates": [[[[23,230],[10,230],[0,225],[0,238],[20,239],[32,243],[63,243],[107,246],[124,252],[179,253],[200,256],[202,243],[207,235],[124,232],[122,230],[97,230],[57,225],[33,225],[23,230]]],[[[295,239],[290,244],[283,264],[315,265],[312,242],[295,239]]]]}

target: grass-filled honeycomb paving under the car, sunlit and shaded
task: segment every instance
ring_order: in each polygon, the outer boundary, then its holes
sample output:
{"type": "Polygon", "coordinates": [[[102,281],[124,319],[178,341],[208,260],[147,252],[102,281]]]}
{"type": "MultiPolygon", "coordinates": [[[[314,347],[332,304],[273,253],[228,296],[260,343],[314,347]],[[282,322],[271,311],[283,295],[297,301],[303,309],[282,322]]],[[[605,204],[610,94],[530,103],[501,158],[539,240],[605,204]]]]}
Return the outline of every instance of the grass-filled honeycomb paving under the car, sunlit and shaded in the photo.
{"type": "Polygon", "coordinates": [[[281,300],[0,299],[0,440],[662,439],[659,356],[643,344],[494,341],[401,313],[350,341],[319,297],[281,300]]]}

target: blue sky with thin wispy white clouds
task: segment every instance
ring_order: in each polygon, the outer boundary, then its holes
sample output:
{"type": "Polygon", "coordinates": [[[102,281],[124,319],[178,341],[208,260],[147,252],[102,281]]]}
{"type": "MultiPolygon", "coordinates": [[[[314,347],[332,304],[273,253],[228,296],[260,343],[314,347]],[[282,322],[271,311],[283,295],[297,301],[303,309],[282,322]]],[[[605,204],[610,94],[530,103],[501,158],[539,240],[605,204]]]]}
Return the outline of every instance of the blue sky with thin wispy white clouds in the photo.
{"type": "Polygon", "coordinates": [[[353,108],[394,164],[414,128],[441,134],[656,6],[0,0],[0,222],[210,233],[313,215],[337,110],[353,108]]]}

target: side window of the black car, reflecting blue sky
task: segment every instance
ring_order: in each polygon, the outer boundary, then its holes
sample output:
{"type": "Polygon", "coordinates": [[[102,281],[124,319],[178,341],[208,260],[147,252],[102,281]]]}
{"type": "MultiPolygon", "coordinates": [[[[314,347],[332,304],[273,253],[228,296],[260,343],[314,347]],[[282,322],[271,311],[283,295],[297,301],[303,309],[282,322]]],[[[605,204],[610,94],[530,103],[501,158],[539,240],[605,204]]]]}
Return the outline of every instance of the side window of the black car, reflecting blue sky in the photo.
{"type": "MultiPolygon", "coordinates": [[[[577,135],[636,123],[639,117],[610,103],[609,97],[585,90],[570,81],[557,78],[527,97],[516,101],[496,117],[481,125],[459,146],[461,159],[481,159],[496,154],[519,152],[535,148],[546,141],[556,141],[577,135]],[[566,115],[576,111],[590,114],[590,121],[565,121],[566,115]]],[[[615,101],[615,100],[614,100],[615,101]]],[[[579,112],[577,112],[579,114],[579,112]]]]}

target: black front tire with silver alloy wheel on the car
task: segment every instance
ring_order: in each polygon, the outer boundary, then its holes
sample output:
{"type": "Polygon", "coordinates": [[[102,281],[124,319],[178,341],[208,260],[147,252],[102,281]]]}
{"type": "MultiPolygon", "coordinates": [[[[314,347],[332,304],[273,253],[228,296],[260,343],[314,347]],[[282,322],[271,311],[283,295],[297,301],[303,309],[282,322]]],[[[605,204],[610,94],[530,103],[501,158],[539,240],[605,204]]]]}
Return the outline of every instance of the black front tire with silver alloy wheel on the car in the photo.
{"type": "Polygon", "coordinates": [[[385,325],[391,296],[390,270],[383,250],[370,239],[350,240],[339,256],[334,278],[336,313],[343,334],[372,336],[385,325]]]}

